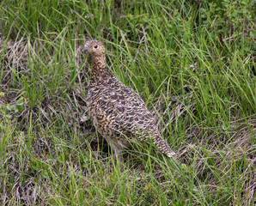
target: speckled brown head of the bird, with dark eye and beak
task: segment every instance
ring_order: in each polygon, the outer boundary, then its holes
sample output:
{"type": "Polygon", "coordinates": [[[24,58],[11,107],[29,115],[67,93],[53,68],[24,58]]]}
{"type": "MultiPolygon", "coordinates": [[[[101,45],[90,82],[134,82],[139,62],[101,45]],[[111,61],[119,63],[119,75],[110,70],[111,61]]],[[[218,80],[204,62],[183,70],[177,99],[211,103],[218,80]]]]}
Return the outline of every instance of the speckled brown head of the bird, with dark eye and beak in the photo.
{"type": "Polygon", "coordinates": [[[95,58],[105,56],[104,45],[102,45],[101,41],[96,39],[86,41],[85,45],[82,47],[82,51],[88,51],[88,53],[95,58]]]}

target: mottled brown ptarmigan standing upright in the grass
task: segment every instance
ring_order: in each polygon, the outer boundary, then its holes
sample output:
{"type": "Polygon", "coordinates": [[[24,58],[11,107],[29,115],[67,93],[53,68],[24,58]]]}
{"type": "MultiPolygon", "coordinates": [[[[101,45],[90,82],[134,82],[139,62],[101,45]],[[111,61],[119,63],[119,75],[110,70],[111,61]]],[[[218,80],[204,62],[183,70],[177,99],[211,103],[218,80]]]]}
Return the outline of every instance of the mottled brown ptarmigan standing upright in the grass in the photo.
{"type": "Polygon", "coordinates": [[[129,140],[152,142],[168,157],[174,151],[162,139],[155,119],[141,97],[126,87],[107,69],[105,48],[101,41],[88,40],[82,51],[92,57],[88,88],[89,116],[95,128],[116,154],[131,146],[129,140]]]}

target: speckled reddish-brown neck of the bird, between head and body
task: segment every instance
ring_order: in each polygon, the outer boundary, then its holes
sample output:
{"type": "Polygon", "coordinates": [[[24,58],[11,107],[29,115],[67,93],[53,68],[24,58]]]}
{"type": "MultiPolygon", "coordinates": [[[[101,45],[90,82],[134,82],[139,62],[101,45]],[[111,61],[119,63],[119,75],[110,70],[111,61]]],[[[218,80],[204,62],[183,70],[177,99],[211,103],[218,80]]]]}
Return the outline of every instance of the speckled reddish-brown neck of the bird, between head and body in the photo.
{"type": "Polygon", "coordinates": [[[107,70],[106,57],[93,57],[92,58],[92,71],[91,71],[91,79],[97,78],[109,72],[107,70]]]}

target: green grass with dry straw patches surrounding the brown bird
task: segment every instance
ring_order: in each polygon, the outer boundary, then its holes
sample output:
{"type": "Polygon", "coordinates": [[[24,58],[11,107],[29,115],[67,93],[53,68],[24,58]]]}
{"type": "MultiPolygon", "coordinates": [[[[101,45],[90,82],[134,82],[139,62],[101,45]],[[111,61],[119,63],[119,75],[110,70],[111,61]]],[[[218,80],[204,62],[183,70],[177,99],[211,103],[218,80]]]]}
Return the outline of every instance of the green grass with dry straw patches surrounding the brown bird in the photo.
{"type": "Polygon", "coordinates": [[[1,205],[253,205],[253,1],[0,3],[1,205]],[[87,118],[86,39],[176,151],[111,158],[87,118]]]}

